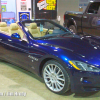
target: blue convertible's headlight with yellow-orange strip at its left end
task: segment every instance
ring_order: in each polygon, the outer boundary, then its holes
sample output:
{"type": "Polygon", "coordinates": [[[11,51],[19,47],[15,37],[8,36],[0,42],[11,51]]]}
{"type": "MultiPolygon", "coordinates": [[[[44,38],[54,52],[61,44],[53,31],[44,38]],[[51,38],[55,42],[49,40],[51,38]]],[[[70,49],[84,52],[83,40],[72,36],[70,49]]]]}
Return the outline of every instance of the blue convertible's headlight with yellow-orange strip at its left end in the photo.
{"type": "Polygon", "coordinates": [[[100,72],[100,69],[80,61],[69,61],[69,63],[77,70],[100,72]]]}

